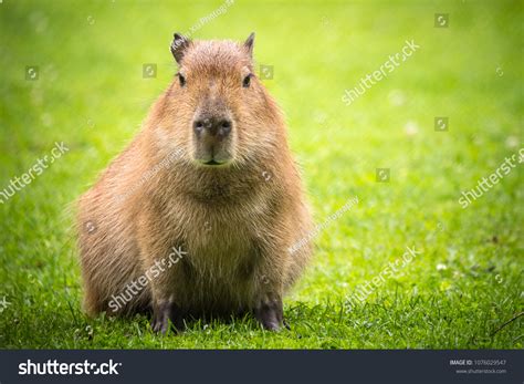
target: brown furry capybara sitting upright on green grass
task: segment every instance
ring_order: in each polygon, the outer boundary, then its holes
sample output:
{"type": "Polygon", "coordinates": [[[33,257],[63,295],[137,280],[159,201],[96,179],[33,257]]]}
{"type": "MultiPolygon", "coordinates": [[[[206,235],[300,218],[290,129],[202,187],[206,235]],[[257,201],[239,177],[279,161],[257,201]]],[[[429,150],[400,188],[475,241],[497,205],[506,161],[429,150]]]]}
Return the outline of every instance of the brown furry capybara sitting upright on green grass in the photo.
{"type": "Polygon", "coordinates": [[[163,333],[248,312],[268,330],[285,324],[312,221],[253,42],[175,33],[172,83],[78,201],[88,314],[149,311],[163,333]]]}

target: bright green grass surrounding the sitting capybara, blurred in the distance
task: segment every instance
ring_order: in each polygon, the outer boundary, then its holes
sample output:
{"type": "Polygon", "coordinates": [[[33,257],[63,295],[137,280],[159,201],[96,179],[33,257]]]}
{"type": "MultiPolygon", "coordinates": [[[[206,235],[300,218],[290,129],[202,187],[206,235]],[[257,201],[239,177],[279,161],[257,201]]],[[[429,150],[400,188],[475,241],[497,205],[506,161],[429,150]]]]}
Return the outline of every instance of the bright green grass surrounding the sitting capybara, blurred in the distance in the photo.
{"type": "Polygon", "coordinates": [[[0,190],[55,142],[71,149],[0,204],[0,301],[10,303],[0,347],[522,349],[522,318],[499,330],[523,310],[522,164],[467,209],[458,203],[522,147],[522,1],[235,1],[195,37],[256,32],[316,222],[359,204],[315,239],[285,300],[291,331],[248,318],[161,338],[145,316],[82,313],[69,207],[168,86],[172,32],[219,4],[0,3],[0,190]],[[437,12],[449,28],[433,27],[437,12]],[[344,90],[411,39],[420,50],[344,105],[344,90]],[[157,63],[156,79],[142,77],[143,63],[157,63]],[[25,81],[27,65],[39,65],[38,81],[25,81]],[[436,116],[449,117],[449,132],[434,132],[436,116]],[[390,168],[390,181],[377,183],[376,168],[390,168]],[[352,308],[407,246],[422,253],[352,308]]]}

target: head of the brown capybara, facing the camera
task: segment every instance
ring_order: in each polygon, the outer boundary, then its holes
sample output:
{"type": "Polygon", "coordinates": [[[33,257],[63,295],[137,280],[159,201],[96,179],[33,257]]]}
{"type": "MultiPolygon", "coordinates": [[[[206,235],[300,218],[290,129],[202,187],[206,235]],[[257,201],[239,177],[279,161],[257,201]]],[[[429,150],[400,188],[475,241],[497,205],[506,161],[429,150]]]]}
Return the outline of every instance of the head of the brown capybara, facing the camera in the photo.
{"type": "Polygon", "coordinates": [[[283,141],[280,112],[253,70],[253,33],[244,43],[175,33],[179,69],[164,102],[161,145],[220,168],[260,159],[283,141]]]}

